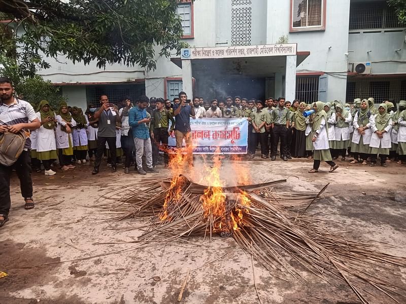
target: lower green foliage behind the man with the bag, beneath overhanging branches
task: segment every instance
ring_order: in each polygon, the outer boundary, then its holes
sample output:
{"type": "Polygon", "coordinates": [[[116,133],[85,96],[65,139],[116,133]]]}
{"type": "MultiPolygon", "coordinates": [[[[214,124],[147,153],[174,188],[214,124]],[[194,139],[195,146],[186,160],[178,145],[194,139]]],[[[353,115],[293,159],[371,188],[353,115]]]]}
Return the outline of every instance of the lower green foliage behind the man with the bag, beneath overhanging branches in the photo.
{"type": "Polygon", "coordinates": [[[46,99],[52,109],[57,109],[61,101],[66,101],[59,88],[50,81],[45,81],[40,75],[21,77],[20,67],[12,59],[0,57],[0,75],[11,79],[17,96],[36,106],[46,99]]]}

